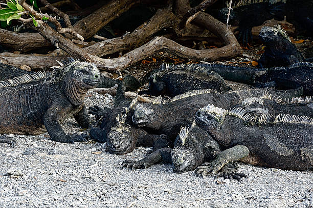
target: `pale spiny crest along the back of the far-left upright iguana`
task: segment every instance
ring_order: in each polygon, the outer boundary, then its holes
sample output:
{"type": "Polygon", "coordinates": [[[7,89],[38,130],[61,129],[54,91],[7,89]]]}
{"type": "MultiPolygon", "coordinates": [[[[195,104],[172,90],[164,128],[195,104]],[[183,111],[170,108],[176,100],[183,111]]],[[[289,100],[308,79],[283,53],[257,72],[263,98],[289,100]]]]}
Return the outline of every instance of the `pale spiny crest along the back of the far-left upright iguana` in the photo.
{"type": "Polygon", "coordinates": [[[43,71],[43,72],[37,71],[33,74],[23,74],[20,76],[16,76],[10,80],[0,81],[0,88],[16,86],[19,84],[25,84],[25,83],[30,83],[36,80],[41,80],[43,78],[46,78],[50,74],[51,74],[50,72],[46,72],[46,71],[43,71]]]}

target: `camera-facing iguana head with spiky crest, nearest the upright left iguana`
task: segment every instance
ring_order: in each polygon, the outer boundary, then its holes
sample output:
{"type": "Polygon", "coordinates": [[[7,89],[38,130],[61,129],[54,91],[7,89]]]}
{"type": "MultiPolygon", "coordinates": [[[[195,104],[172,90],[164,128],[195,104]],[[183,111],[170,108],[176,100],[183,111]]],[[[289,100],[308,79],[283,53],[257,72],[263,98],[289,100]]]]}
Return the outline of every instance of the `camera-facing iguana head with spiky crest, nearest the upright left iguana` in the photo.
{"type": "Polygon", "coordinates": [[[131,152],[136,145],[134,139],[135,127],[130,125],[129,111],[137,102],[137,97],[133,99],[129,107],[125,108],[115,118],[111,117],[111,125],[107,128],[106,149],[113,154],[126,154],[131,152]],[[115,122],[114,122],[115,121],[115,122]]]}

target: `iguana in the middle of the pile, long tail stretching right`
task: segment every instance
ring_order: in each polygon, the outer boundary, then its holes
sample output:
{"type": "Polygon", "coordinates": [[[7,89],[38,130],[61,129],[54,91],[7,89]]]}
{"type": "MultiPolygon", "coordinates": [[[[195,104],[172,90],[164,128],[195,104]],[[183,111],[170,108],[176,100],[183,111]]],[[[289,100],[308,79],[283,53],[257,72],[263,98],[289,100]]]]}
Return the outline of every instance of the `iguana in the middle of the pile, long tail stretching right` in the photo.
{"type": "Polygon", "coordinates": [[[168,135],[174,141],[181,126],[190,126],[195,112],[199,108],[207,106],[208,103],[230,109],[247,97],[260,97],[270,94],[282,98],[297,97],[302,94],[302,88],[301,86],[293,90],[264,88],[226,93],[216,93],[210,89],[195,90],[177,95],[168,102],[138,104],[132,116],[132,122],[150,131],[168,135]]]}

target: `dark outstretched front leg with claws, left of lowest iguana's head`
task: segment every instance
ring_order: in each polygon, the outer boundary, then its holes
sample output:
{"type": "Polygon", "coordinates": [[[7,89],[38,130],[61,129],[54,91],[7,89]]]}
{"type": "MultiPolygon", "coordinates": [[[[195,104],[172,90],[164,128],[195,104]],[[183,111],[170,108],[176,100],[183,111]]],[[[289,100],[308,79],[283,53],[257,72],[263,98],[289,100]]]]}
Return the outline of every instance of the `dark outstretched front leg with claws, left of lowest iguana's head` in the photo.
{"type": "Polygon", "coordinates": [[[140,161],[125,160],[122,163],[122,167],[131,169],[146,169],[154,164],[160,163],[161,161],[165,163],[171,163],[171,151],[171,148],[164,147],[155,150],[151,154],[148,154],[144,159],[140,161]]]}

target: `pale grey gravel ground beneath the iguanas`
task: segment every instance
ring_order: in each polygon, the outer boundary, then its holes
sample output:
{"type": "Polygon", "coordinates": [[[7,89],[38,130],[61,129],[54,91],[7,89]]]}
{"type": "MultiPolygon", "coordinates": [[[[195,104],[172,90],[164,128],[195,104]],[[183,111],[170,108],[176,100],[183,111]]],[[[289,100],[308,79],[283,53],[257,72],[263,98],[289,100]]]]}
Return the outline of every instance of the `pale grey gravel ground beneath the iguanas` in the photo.
{"type": "MultiPolygon", "coordinates": [[[[86,105],[111,107],[113,97],[88,93],[86,105]]],[[[84,132],[73,118],[67,133],[84,132]]],[[[144,157],[149,148],[126,155],[105,151],[94,141],[75,144],[38,136],[10,135],[16,147],[0,145],[0,207],[313,207],[313,172],[242,164],[241,183],[176,174],[167,164],[146,170],[121,169],[125,159],[144,157]]]]}

